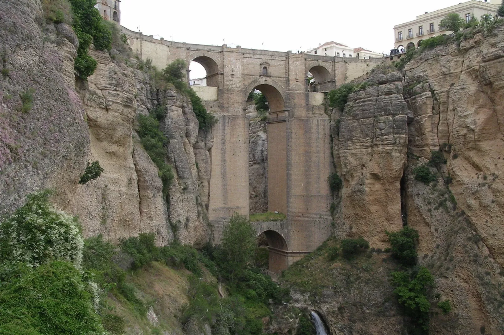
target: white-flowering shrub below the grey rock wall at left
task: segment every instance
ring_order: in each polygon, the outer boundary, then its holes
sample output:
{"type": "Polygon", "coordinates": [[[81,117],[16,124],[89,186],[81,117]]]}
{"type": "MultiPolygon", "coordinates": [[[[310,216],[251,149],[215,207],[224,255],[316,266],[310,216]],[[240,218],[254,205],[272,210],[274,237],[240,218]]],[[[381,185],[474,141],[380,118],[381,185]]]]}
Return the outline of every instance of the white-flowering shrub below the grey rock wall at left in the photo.
{"type": "Polygon", "coordinates": [[[37,267],[51,260],[80,266],[84,241],[75,217],[53,209],[49,192],[27,196],[26,204],[0,224],[0,264],[37,267]]]}

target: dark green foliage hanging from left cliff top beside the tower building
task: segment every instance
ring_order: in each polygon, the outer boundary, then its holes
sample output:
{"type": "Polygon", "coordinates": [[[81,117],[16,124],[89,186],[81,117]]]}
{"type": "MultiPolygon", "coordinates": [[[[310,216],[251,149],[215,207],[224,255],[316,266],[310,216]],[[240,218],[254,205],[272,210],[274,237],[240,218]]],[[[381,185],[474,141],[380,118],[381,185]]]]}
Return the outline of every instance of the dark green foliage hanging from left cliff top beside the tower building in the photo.
{"type": "Polygon", "coordinates": [[[79,39],[74,67],[77,75],[86,79],[93,74],[97,62],[88,55],[91,43],[97,50],[108,51],[112,47],[112,34],[103,23],[100,13],[94,7],[96,0],[69,0],[73,12],[73,28],[79,39]]]}

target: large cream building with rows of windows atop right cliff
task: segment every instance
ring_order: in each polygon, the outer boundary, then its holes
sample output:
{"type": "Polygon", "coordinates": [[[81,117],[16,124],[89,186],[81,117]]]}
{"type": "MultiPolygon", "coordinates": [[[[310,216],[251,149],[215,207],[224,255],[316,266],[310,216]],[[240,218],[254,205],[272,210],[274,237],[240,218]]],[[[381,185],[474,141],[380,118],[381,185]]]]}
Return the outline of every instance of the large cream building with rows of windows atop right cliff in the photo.
{"type": "Polygon", "coordinates": [[[417,16],[416,20],[394,27],[394,48],[399,51],[412,47],[417,48],[427,38],[451,34],[451,31],[439,28],[439,22],[448,14],[457,13],[466,22],[469,22],[472,17],[479,20],[483,14],[496,15],[499,6],[500,0],[471,0],[435,12],[425,12],[425,14],[417,16]]]}

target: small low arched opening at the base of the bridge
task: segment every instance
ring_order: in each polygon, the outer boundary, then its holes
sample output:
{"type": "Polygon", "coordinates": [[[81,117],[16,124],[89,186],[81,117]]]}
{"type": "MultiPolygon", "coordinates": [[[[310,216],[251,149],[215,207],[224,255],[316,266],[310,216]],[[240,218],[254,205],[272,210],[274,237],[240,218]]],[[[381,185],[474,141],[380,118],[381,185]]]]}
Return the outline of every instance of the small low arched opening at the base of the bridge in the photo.
{"type": "Polygon", "coordinates": [[[285,238],[275,230],[263,231],[258,236],[258,242],[268,247],[268,270],[280,273],[287,269],[287,242],[285,238]],[[266,245],[265,245],[266,244],[266,245]]]}

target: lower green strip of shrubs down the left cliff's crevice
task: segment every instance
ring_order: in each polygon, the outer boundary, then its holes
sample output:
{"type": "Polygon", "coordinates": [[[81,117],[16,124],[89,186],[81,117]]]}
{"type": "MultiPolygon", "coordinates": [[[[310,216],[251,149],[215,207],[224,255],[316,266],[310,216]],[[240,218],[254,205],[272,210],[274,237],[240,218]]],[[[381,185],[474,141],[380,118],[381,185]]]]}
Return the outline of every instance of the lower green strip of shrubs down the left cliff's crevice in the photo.
{"type": "Polygon", "coordinates": [[[165,162],[165,146],[168,144],[168,140],[159,130],[159,121],[156,119],[161,115],[160,110],[162,110],[161,106],[153,109],[150,115],[140,114],[137,133],[140,137],[140,143],[159,169],[159,178],[163,182],[163,195],[166,197],[174,174],[171,165],[165,162]]]}

